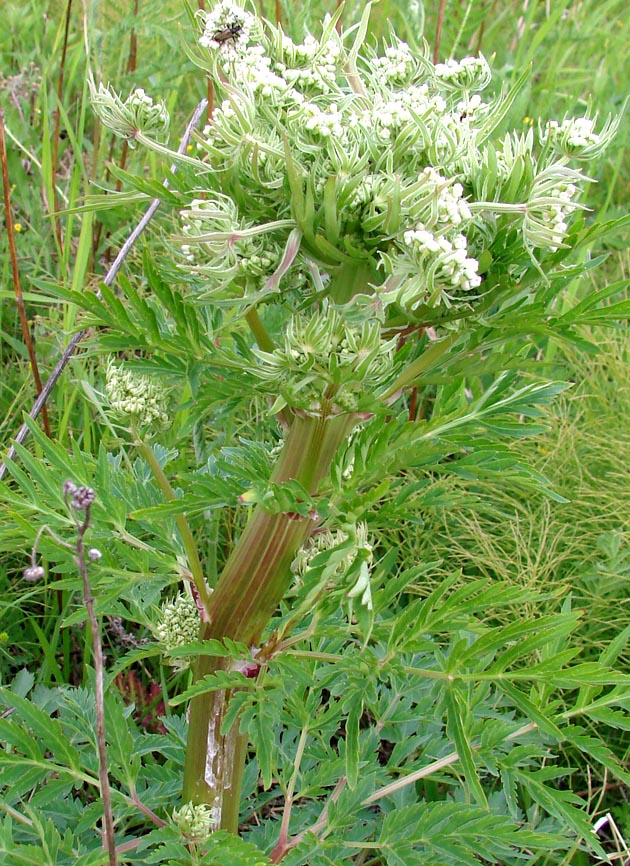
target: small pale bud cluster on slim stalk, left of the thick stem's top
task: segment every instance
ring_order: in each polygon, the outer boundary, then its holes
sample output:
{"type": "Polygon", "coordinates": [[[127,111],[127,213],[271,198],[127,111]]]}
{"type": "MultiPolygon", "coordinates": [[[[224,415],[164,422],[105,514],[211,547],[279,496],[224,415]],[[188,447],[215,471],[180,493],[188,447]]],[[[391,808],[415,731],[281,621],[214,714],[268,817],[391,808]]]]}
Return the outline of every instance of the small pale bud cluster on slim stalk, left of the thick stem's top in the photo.
{"type": "Polygon", "coordinates": [[[131,418],[141,427],[168,425],[166,389],[149,376],[110,360],[105,390],[110,406],[117,414],[131,418]]]}

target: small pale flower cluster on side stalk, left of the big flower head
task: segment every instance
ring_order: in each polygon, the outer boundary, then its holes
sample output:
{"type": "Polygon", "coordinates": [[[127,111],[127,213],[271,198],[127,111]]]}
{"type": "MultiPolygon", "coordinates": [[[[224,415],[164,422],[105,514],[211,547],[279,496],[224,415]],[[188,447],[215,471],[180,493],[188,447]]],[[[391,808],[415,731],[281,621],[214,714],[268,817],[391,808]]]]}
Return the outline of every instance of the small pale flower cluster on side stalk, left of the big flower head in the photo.
{"type": "Polygon", "coordinates": [[[111,87],[90,82],[90,100],[101,121],[115,135],[134,146],[138,133],[160,138],[166,135],[170,123],[166,104],[153,102],[141,87],[133,90],[123,102],[111,87]]]}

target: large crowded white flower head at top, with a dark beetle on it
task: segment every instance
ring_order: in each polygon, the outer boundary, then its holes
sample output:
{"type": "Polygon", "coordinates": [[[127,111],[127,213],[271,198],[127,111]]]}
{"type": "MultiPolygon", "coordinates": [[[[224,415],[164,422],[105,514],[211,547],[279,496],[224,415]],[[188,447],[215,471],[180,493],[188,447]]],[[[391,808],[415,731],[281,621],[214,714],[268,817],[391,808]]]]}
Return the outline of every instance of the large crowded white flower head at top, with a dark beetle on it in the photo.
{"type": "Polygon", "coordinates": [[[310,286],[339,303],[339,273],[363,268],[352,295],[372,317],[453,323],[532,263],[543,278],[588,180],[568,162],[616,129],[566,118],[493,140],[515,93],[484,100],[483,57],[434,65],[395,36],[377,53],[366,20],[353,44],[334,19],[296,42],[231,0],[198,20],[218,104],[179,242],[217,302],[310,286]]]}

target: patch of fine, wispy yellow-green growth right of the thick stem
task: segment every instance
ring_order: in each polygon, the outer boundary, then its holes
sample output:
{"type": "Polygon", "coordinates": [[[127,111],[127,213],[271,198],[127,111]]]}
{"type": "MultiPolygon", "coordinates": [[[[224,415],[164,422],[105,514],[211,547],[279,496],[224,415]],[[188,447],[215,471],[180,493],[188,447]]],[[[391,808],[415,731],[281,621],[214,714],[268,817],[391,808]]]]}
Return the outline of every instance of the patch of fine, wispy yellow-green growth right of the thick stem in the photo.
{"type": "MultiPolygon", "coordinates": [[[[630,621],[630,331],[589,336],[597,352],[556,358],[574,385],[546,432],[514,446],[566,502],[477,485],[486,507],[463,497],[455,511],[432,509],[405,558],[441,561],[434,580],[461,569],[541,591],[552,610],[570,598],[584,611],[585,648],[599,655],[630,621]]],[[[630,663],[630,649],[620,658],[630,663]]]]}

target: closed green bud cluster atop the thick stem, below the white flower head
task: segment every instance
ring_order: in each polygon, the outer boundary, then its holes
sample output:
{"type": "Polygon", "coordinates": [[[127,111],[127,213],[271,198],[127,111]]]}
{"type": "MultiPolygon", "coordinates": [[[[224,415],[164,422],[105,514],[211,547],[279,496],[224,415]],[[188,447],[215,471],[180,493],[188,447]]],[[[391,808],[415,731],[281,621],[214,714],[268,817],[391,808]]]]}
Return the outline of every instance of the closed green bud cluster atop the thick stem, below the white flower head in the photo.
{"type": "Polygon", "coordinates": [[[377,392],[393,371],[396,341],[381,339],[378,322],[353,325],[332,307],[294,315],[284,344],[255,349],[256,376],[280,390],[284,405],[312,414],[354,412],[364,392],[377,392]]]}

